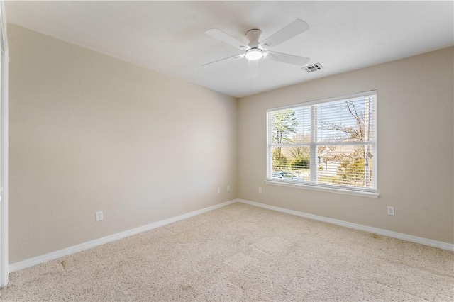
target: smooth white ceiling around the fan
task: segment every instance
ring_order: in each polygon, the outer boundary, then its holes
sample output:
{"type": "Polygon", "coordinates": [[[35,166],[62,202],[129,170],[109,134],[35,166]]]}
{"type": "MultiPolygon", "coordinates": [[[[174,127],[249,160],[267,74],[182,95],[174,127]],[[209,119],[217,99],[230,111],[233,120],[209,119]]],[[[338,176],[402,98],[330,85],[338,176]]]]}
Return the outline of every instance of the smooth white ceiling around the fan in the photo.
{"type": "Polygon", "coordinates": [[[6,18],[238,98],[454,45],[453,1],[6,1],[6,18]],[[247,30],[264,40],[297,18],[311,28],[273,50],[310,57],[319,72],[270,60],[200,66],[240,52],[206,30],[247,43],[247,30]]]}

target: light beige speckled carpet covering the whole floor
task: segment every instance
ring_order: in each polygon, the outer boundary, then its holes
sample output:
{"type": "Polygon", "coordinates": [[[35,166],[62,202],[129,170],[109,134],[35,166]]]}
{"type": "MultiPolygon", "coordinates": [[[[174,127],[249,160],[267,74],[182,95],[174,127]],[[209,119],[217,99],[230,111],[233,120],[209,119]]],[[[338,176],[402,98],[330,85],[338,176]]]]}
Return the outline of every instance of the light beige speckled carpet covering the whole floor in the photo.
{"type": "Polygon", "coordinates": [[[14,272],[2,301],[453,301],[454,253],[235,203],[14,272]]]}

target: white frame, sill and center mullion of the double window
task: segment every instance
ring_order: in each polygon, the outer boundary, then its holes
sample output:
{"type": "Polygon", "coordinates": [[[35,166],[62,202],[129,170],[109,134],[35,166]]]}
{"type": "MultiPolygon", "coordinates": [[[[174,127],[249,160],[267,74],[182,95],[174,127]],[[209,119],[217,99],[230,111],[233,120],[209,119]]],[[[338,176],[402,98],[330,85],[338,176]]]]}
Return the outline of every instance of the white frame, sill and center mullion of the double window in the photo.
{"type": "MultiPolygon", "coordinates": [[[[371,90],[371,91],[364,91],[360,92],[357,94],[349,94],[345,96],[336,96],[328,99],[320,99],[316,101],[307,101],[307,102],[302,102],[298,104],[292,104],[292,105],[287,105],[287,106],[279,106],[279,107],[274,107],[274,108],[267,108],[266,110],[266,177],[265,177],[265,184],[272,184],[272,185],[277,185],[277,186],[287,186],[287,187],[292,187],[292,188],[298,188],[298,189],[309,189],[309,190],[314,190],[314,191],[327,191],[327,192],[332,192],[332,193],[338,193],[338,194],[348,194],[348,195],[353,195],[353,196],[365,196],[365,197],[371,197],[371,198],[378,198],[380,195],[378,193],[378,181],[377,181],[377,90],[371,90]],[[373,164],[373,171],[372,171],[372,179],[374,180],[375,187],[374,188],[355,188],[353,186],[343,186],[343,185],[336,185],[336,184],[324,184],[324,183],[319,183],[314,181],[314,175],[316,173],[311,173],[311,181],[306,181],[304,183],[297,182],[297,181],[291,181],[291,180],[280,180],[280,179],[275,179],[272,178],[272,127],[270,127],[270,118],[269,118],[269,113],[273,111],[281,111],[285,109],[293,109],[293,108],[299,108],[299,107],[309,107],[311,110],[311,116],[313,116],[313,108],[312,106],[318,105],[318,104],[323,104],[323,103],[329,103],[333,101],[342,101],[342,100],[348,100],[348,99],[358,99],[362,96],[370,96],[374,95],[375,99],[372,102],[372,111],[374,114],[372,115],[372,124],[374,125],[373,129],[373,137],[375,138],[372,141],[372,152],[374,157],[372,158],[372,164],[373,164]]],[[[301,146],[301,145],[307,145],[311,146],[310,147],[310,165],[311,167],[316,167],[317,164],[317,147],[321,143],[316,142],[316,123],[318,119],[311,118],[311,142],[303,143],[303,144],[289,144],[289,146],[301,146]],[[314,128],[315,126],[315,128],[314,128]],[[315,164],[315,165],[314,165],[315,164]]],[[[368,145],[366,142],[351,142],[345,145],[368,145]]]]}

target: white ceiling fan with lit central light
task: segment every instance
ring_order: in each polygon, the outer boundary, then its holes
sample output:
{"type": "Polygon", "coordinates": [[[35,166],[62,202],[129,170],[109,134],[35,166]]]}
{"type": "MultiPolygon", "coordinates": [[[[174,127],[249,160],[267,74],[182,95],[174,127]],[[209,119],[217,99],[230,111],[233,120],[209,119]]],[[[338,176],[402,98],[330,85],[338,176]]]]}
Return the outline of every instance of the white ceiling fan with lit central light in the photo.
{"type": "Polygon", "coordinates": [[[248,39],[249,44],[245,44],[237,40],[236,38],[233,38],[231,35],[224,33],[222,30],[207,30],[205,32],[206,35],[209,35],[212,38],[222,41],[223,43],[227,43],[228,45],[232,45],[233,47],[243,50],[243,52],[238,55],[233,55],[232,57],[226,57],[221,60],[209,62],[201,66],[206,66],[218,62],[240,60],[243,58],[246,58],[249,61],[266,59],[299,66],[306,65],[306,63],[309,62],[309,57],[300,57],[298,55],[289,55],[287,53],[274,52],[271,51],[271,49],[295,37],[296,35],[299,35],[300,33],[304,33],[308,29],[308,23],[302,21],[301,19],[297,19],[290,23],[288,26],[285,26],[281,30],[277,31],[277,33],[275,33],[274,35],[271,35],[269,38],[263,40],[262,42],[258,41],[260,39],[260,35],[262,34],[262,30],[251,29],[246,33],[246,38],[248,39]]]}

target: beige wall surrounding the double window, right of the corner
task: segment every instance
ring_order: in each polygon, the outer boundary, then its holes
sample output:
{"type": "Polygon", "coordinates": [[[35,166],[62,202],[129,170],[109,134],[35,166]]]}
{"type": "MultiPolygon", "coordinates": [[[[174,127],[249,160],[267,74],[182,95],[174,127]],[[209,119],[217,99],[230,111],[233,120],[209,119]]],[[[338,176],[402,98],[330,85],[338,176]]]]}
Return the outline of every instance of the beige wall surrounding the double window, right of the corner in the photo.
{"type": "Polygon", "coordinates": [[[238,198],[453,243],[453,57],[450,47],[240,99],[238,198]],[[263,183],[267,108],[372,89],[380,198],[263,183]]]}

